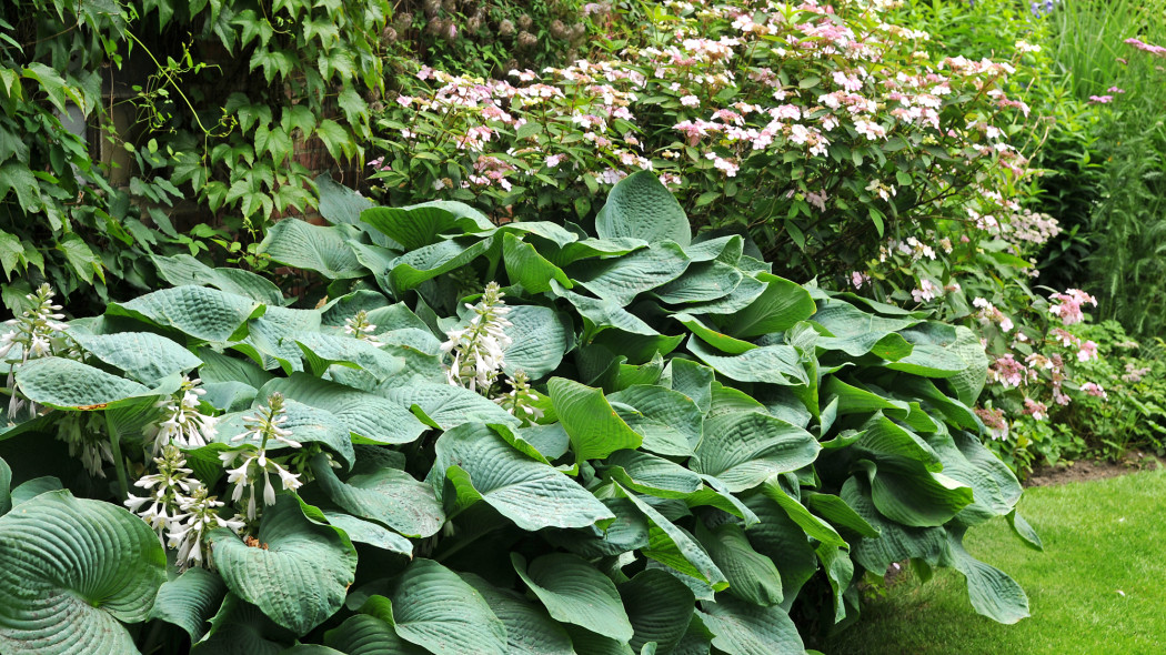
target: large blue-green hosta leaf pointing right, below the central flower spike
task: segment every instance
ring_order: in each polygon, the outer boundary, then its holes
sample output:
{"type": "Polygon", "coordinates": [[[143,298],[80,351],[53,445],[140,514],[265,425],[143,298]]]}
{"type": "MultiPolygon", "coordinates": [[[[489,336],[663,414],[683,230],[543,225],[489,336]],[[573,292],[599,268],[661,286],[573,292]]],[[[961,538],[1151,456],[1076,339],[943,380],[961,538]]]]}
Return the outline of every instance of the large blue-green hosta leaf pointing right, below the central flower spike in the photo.
{"type": "MultiPolygon", "coordinates": [[[[452,484],[458,505],[483,500],[524,530],[582,528],[614,517],[591,492],[554,467],[522,455],[494,430],[464,423],[434,446],[429,481],[452,484]]],[[[449,502],[450,499],[445,499],[449,502]]]]}

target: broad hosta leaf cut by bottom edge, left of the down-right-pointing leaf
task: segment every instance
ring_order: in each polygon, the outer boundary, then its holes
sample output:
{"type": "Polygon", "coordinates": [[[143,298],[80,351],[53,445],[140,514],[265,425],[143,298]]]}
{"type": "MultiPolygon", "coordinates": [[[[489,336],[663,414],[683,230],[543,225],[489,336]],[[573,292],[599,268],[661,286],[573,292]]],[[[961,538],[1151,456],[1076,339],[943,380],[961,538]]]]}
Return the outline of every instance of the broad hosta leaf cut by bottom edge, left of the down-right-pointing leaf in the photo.
{"type": "Polygon", "coordinates": [[[436,655],[506,655],[506,627],[490,605],[454,571],[416,559],[393,585],[391,619],[396,634],[436,655]]]}

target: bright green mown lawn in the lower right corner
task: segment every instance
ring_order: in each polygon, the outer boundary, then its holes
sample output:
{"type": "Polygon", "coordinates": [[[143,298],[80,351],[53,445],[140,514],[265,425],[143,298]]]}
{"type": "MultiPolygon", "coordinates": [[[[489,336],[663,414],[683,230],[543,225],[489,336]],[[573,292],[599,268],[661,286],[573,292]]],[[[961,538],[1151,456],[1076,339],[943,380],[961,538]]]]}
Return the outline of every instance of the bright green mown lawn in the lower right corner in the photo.
{"type": "Polygon", "coordinates": [[[1028,593],[1032,617],[1002,626],[975,614],[963,577],[907,576],[866,603],[829,654],[961,655],[1166,652],[1166,471],[1025,491],[1020,513],[1045,551],[996,521],[968,534],[968,550],[1028,593]],[[1118,593],[1119,591],[1124,592],[1118,593]]]}

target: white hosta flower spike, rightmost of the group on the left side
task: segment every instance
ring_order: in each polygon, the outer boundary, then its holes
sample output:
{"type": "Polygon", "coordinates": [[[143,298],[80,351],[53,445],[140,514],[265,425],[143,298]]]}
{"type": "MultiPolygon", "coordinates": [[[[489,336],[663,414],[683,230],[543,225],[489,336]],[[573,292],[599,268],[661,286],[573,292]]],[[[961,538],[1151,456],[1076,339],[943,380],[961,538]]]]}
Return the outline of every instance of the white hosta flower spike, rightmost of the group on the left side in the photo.
{"type": "Polygon", "coordinates": [[[292,438],[292,431],[283,428],[287,423],[287,408],[285,407],[283,394],[274,393],[267,396],[267,407],[260,406],[255,414],[243,420],[247,431],[231,437],[231,443],[247,442],[244,448],[225,450],[219,453],[219,460],[227,469],[227,484],[234,485],[231,493],[231,501],[239,503],[244,495],[246,501],[247,521],[254,522],[259,515],[257,499],[262,493],[264,505],[275,505],[275,487],[272,485],[272,474],[279,478],[280,487],[286,491],[295,491],[303,484],[300,474],[285,469],[280,462],[268,457],[268,444],[274,442],[293,449],[298,449],[303,444],[292,438]],[[237,465],[238,464],[238,465],[237,465]],[[234,466],[231,469],[231,466],[234,466]],[[257,487],[262,480],[262,492],[257,487]]]}

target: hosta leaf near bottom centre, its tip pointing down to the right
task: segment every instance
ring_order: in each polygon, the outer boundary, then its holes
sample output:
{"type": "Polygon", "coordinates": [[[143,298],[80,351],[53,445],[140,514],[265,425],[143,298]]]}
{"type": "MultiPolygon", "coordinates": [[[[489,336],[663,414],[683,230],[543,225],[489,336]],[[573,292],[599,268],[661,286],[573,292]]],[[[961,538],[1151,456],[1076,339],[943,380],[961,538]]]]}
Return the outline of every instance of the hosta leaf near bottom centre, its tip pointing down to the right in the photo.
{"type": "Polygon", "coordinates": [[[552,618],[603,636],[627,641],[634,631],[607,576],[577,555],[553,552],[531,562],[511,554],[514,570],[552,618]]]}

